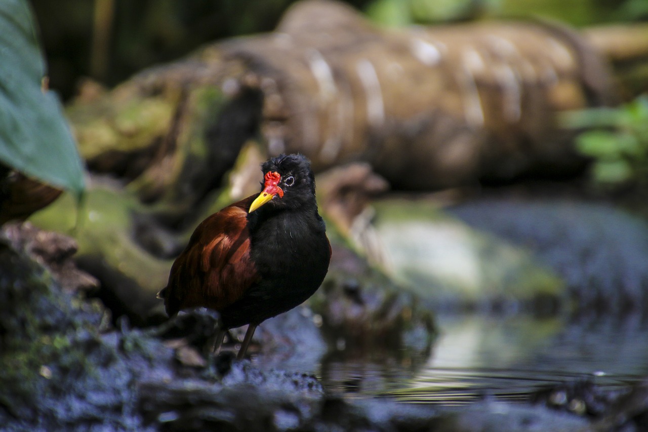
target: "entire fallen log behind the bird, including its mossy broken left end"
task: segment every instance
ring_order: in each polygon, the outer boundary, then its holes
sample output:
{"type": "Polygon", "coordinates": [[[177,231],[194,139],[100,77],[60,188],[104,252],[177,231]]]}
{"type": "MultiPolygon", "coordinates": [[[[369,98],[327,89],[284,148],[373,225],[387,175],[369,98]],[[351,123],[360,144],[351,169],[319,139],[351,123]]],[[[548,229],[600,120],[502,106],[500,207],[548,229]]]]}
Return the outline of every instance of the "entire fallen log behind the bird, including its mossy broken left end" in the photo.
{"type": "Polygon", "coordinates": [[[318,170],[369,162],[405,189],[561,175],[583,159],[556,114],[617,96],[590,36],[528,22],[381,30],[340,3],[303,1],[273,33],[205,47],[69,112],[90,166],[143,174],[145,200],[171,185],[204,197],[250,139],[318,170]],[[98,151],[98,130],[119,157],[98,151]]]}

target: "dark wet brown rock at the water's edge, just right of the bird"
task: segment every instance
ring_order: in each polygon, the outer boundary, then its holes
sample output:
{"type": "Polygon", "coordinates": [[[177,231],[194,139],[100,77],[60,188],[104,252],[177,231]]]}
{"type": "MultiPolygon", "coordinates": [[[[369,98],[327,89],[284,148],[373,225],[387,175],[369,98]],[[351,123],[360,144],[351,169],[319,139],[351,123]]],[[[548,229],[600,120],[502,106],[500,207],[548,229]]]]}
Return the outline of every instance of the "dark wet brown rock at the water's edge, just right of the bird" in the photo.
{"type": "Polygon", "coordinates": [[[334,244],[329,274],[308,304],[321,317],[329,346],[338,350],[402,348],[424,354],[434,339],[430,309],[343,246],[334,244]]]}

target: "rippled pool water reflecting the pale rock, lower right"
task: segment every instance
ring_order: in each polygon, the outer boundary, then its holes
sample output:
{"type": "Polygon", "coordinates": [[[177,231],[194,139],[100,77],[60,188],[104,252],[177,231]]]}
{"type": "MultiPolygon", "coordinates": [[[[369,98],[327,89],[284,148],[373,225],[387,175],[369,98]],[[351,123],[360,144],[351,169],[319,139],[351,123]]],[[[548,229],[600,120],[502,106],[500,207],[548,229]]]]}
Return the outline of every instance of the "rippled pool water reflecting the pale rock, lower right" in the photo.
{"type": "Polygon", "coordinates": [[[327,389],[446,406],[480,398],[526,401],[535,390],[591,381],[603,389],[648,376],[648,324],[638,315],[560,318],[440,317],[429,357],[329,354],[316,372],[327,389]]]}

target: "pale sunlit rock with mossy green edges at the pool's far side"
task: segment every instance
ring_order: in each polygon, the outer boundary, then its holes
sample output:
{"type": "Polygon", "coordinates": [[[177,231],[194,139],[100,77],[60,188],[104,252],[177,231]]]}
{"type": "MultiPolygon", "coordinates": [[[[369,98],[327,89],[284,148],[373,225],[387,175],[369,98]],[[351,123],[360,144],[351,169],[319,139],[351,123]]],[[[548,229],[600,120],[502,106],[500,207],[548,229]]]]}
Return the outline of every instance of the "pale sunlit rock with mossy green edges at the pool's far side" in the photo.
{"type": "Polygon", "coordinates": [[[523,247],[482,234],[429,200],[373,202],[373,261],[424,304],[445,311],[569,307],[564,282],[523,247]]]}

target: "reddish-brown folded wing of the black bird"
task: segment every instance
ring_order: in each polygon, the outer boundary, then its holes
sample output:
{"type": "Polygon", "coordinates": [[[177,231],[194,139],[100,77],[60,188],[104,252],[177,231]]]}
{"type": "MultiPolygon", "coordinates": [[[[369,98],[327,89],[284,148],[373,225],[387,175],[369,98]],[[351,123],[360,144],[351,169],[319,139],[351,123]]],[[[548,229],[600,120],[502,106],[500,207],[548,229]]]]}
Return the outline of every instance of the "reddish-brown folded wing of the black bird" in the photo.
{"type": "Polygon", "coordinates": [[[248,197],[207,217],[171,267],[161,291],[169,316],[204,306],[216,311],[232,304],[259,279],[250,256],[248,197]]]}

